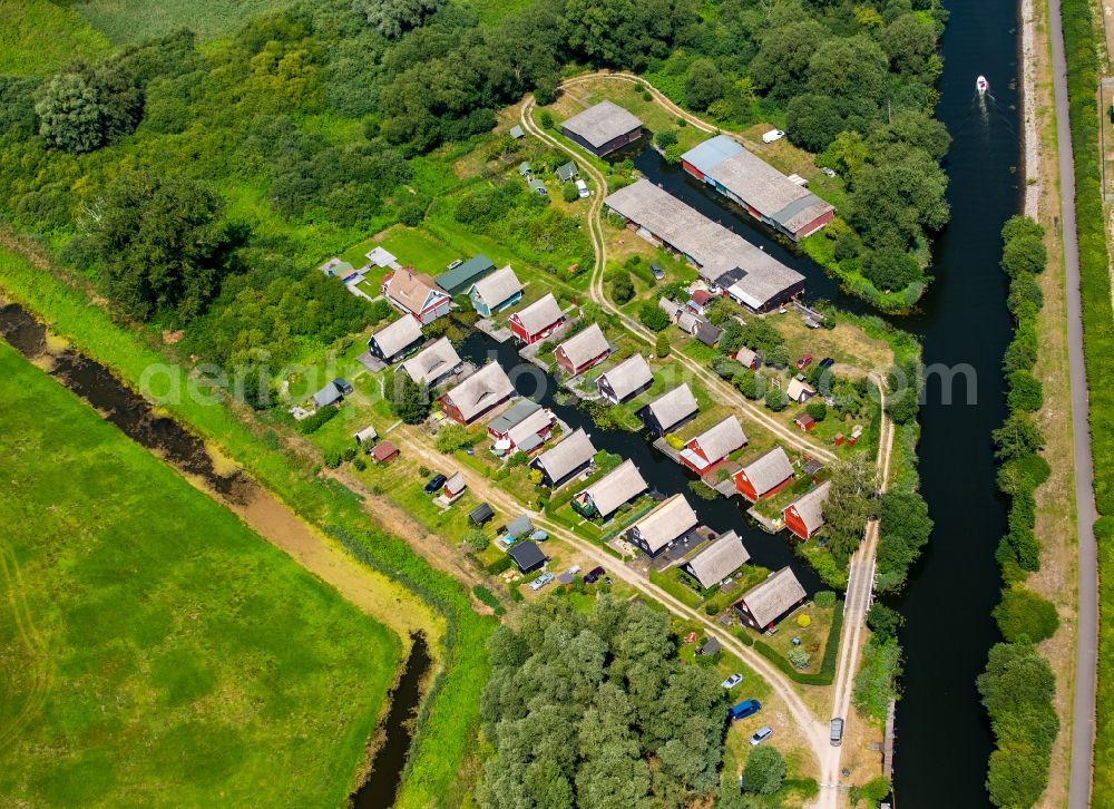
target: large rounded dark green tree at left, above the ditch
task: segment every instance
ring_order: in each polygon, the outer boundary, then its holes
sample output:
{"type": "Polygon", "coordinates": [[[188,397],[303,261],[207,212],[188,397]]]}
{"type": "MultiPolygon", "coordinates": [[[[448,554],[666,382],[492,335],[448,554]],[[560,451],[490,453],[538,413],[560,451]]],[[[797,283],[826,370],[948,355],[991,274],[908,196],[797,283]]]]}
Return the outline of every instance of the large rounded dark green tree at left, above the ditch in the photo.
{"type": "Polygon", "coordinates": [[[100,269],[118,311],[147,320],[189,319],[229,267],[229,231],[219,198],[179,177],[129,172],[111,182],[86,218],[87,259],[100,269]]]}

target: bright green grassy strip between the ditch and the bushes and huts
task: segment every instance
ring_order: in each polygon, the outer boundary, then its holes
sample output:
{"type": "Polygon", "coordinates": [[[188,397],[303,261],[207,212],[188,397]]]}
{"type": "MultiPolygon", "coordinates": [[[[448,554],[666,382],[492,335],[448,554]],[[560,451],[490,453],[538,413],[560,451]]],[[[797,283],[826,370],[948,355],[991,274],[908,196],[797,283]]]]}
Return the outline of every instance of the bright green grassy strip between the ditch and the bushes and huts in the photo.
{"type": "MultiPolygon", "coordinates": [[[[134,388],[154,365],[176,368],[155,343],[145,344],[141,333],[115,325],[101,309],[90,305],[82,289],[67,286],[59,276],[36,269],[16,253],[0,252],[0,289],[134,388]]],[[[186,373],[183,370],[182,377],[186,373]]],[[[154,396],[165,392],[157,383],[150,391],[154,396]]],[[[280,448],[277,436],[255,425],[248,413],[188,396],[162,407],[243,466],[299,516],[335,537],[361,563],[402,585],[416,603],[443,617],[443,643],[431,650],[439,674],[418,719],[398,805],[459,803],[470,786],[467,762],[473,750],[478,695],[487,678],[482,641],[494,620],[473,612],[459,583],[432,569],[404,540],[372,523],[359,497],[335,480],[319,478],[315,465],[289,447],[280,448]],[[462,639],[468,642],[461,643],[462,639]]],[[[397,598],[398,591],[392,596],[397,598]]],[[[407,608],[404,603],[400,606],[407,608]]],[[[362,751],[353,768],[361,758],[362,751]]]]}

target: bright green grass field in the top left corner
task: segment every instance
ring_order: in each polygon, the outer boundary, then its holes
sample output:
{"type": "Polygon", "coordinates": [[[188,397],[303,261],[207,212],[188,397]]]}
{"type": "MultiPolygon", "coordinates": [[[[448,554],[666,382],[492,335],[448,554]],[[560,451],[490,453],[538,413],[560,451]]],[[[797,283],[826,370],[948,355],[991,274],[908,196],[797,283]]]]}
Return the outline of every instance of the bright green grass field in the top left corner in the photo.
{"type": "Polygon", "coordinates": [[[108,49],[108,39],[72,9],[50,0],[0,0],[0,74],[49,74],[108,49]]]}

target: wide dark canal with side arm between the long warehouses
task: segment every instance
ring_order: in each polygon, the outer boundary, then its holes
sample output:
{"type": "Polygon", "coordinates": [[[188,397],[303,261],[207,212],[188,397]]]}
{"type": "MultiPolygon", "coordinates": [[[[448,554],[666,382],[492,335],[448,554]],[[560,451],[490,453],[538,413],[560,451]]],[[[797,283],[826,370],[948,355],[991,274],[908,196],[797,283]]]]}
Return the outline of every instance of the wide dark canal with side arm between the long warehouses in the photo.
{"type": "MultiPolygon", "coordinates": [[[[950,403],[930,377],[921,409],[921,490],[936,522],[924,558],[893,606],[907,618],[902,696],[897,713],[895,795],[902,809],[986,807],[989,723],[975,690],[987,650],[999,640],[990,611],[1000,578],[994,561],[1006,529],[995,486],[990,431],[1006,415],[1000,370],[1012,335],[999,233],[1020,209],[1017,3],[946,2],[938,117],[954,143],[945,168],[951,222],[932,244],[936,281],[917,311],[890,316],[917,334],[927,365],[967,364],[977,382],[968,403],[964,377],[950,403]],[[975,79],[985,75],[985,106],[975,79]]],[[[635,165],[653,182],[731,227],[808,277],[808,295],[869,311],[801,252],[732,209],[701,183],[647,149],[635,165]]]]}

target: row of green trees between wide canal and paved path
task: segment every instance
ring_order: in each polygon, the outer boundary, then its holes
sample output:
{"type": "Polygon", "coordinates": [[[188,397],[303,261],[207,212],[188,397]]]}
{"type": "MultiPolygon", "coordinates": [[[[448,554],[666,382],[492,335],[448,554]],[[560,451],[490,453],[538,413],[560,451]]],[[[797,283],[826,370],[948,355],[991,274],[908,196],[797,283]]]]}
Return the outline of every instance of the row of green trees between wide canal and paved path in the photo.
{"type": "Polygon", "coordinates": [[[1005,642],[990,650],[978,690],[996,744],[987,790],[995,806],[1015,808],[1036,803],[1048,783],[1052,745],[1059,732],[1053,706],[1056,679],[1034,644],[1051,637],[1059,618],[1051,602],[1025,587],[1029,573],[1040,568],[1040,543],[1034,530],[1036,490],[1051,472],[1038,455],[1044,436],[1033,416],[1044,403],[1040,380],[1033,374],[1036,318],[1044,302],[1037,274],[1047,262],[1044,228],[1026,216],[1014,216],[1003,227],[1001,238],[1001,267],[1009,276],[1007,305],[1016,323],[1003,360],[1009,415],[994,431],[998,488],[1010,501],[1008,529],[996,553],[1006,586],[994,616],[1005,642]]]}

